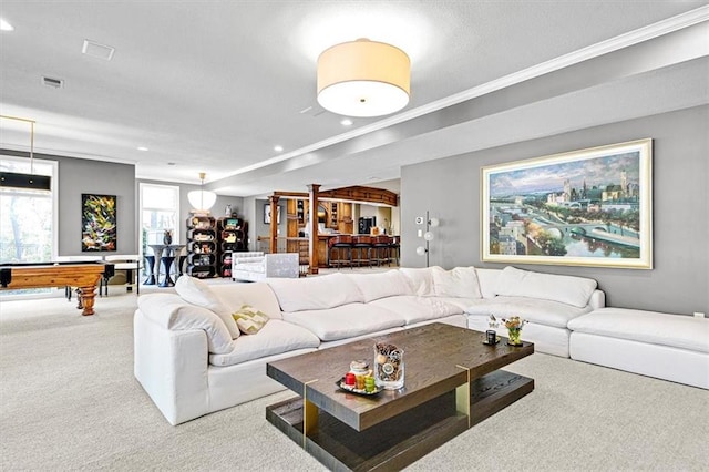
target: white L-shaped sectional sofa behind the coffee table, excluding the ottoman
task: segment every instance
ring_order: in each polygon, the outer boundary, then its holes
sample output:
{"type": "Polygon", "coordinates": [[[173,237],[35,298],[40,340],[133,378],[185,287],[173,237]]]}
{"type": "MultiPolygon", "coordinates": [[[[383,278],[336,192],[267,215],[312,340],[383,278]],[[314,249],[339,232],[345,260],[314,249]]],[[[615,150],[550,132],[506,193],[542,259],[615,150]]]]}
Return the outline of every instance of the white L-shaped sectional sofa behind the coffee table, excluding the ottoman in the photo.
{"type": "Polygon", "coordinates": [[[267,362],[428,322],[469,327],[472,320],[485,330],[490,314],[523,315],[532,320],[523,339],[537,341],[538,335],[537,351],[567,355],[568,347],[559,347],[566,326],[556,325],[603,306],[595,281],[535,275],[530,284],[516,269],[505,270],[401,268],[213,286],[183,276],[175,286],[179,295],[138,298],[135,377],[167,421],[178,424],[282,390],[266,377],[267,362]],[[515,280],[523,284],[518,295],[506,285],[515,280]],[[544,280],[566,295],[543,290],[546,298],[534,298],[530,290],[544,280]],[[583,294],[586,305],[573,305],[583,294]],[[257,334],[240,332],[233,314],[245,310],[268,319],[257,334]]]}

